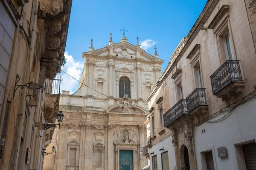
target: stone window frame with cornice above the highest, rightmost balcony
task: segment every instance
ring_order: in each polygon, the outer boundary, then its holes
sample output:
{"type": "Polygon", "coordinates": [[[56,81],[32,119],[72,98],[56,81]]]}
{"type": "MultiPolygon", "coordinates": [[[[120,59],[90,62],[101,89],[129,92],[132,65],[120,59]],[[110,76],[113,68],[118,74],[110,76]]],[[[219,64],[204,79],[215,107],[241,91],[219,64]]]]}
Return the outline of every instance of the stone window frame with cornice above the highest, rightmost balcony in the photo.
{"type": "Polygon", "coordinates": [[[228,12],[228,5],[221,6],[221,9],[218,11],[218,13],[215,15],[215,17],[212,19],[212,22],[208,26],[208,29],[213,29],[213,34],[215,35],[216,45],[218,49],[218,57],[221,64],[227,61],[225,49],[226,47],[223,40],[224,35],[227,34],[229,34],[230,36],[230,46],[233,60],[237,60],[236,48],[233,42],[232,27],[230,24],[230,17],[228,12]]]}

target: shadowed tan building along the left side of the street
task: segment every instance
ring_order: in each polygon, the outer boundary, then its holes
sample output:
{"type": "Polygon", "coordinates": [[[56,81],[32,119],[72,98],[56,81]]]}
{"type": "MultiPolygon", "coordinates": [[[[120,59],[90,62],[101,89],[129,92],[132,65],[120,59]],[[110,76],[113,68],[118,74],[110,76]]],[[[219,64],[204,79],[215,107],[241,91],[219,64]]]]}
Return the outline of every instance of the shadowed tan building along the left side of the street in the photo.
{"type": "Polygon", "coordinates": [[[71,3],[0,0],[1,170],[42,169],[53,133],[42,126],[58,113],[51,85],[63,62],[71,3]]]}

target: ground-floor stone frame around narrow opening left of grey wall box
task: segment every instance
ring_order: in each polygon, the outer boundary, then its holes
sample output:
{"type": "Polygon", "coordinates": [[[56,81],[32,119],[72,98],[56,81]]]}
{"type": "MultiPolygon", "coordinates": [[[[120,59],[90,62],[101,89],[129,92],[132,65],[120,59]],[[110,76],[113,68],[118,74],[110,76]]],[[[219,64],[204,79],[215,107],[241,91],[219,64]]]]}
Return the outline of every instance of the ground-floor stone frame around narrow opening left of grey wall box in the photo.
{"type": "Polygon", "coordinates": [[[207,169],[207,162],[206,162],[205,153],[207,153],[209,151],[212,151],[214,168],[215,169],[217,168],[216,157],[215,157],[215,152],[214,152],[214,145],[211,144],[211,145],[199,148],[200,158],[201,158],[201,165],[202,165],[203,170],[207,169]]]}

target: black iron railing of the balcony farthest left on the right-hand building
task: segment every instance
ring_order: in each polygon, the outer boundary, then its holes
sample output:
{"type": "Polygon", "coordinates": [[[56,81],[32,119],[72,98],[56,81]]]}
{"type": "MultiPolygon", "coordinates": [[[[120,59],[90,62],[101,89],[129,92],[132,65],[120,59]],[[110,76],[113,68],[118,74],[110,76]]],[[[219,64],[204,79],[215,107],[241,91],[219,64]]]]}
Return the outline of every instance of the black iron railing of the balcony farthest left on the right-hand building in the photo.
{"type": "Polygon", "coordinates": [[[181,115],[185,115],[188,112],[186,100],[181,99],[171,109],[169,109],[164,115],[164,126],[166,127],[181,115]]]}

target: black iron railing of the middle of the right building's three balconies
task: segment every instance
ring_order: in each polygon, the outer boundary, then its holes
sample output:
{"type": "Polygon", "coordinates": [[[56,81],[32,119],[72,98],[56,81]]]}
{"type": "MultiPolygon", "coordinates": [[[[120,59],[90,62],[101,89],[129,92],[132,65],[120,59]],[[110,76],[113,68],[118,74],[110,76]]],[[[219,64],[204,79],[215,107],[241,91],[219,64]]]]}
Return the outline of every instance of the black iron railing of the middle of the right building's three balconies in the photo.
{"type": "Polygon", "coordinates": [[[199,105],[207,105],[205,89],[197,88],[195,89],[187,98],[186,103],[188,107],[188,112],[192,111],[199,105]]]}

